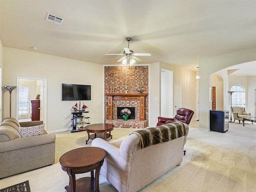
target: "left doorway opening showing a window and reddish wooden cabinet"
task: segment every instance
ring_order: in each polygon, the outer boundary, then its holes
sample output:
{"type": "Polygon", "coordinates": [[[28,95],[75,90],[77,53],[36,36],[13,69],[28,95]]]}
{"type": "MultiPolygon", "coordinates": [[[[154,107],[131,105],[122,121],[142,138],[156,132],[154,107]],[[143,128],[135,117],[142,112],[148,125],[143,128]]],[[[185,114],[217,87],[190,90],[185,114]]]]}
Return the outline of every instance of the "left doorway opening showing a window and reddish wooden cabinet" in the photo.
{"type": "Polygon", "coordinates": [[[41,78],[27,78],[17,77],[17,91],[16,91],[16,119],[19,121],[31,120],[31,100],[40,100],[40,120],[45,124],[46,128],[46,106],[47,106],[47,80],[41,78]],[[26,89],[24,89],[26,88],[26,89]],[[24,91],[29,90],[28,97],[22,100],[24,91]],[[28,103],[27,103],[28,102],[28,103]],[[22,111],[22,112],[21,112],[22,111]]]}

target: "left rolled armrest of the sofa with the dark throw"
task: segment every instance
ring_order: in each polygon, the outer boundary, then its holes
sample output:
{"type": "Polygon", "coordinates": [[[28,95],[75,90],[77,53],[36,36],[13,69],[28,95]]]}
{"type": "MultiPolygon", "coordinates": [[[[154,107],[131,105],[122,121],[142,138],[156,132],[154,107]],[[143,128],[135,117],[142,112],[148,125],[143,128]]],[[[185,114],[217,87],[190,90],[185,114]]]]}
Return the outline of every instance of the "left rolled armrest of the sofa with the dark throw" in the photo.
{"type": "Polygon", "coordinates": [[[107,153],[105,160],[108,160],[120,169],[127,171],[127,162],[124,160],[124,158],[122,158],[118,147],[112,145],[102,138],[95,138],[92,141],[92,147],[98,147],[105,150],[107,153]]]}

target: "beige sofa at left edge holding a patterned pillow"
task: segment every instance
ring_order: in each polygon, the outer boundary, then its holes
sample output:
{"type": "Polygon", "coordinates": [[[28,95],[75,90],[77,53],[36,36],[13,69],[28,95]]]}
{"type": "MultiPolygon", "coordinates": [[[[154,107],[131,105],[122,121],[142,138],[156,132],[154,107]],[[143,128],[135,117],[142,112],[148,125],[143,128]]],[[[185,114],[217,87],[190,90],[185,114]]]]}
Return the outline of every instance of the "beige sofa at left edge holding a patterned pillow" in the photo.
{"type": "Polygon", "coordinates": [[[54,163],[55,134],[21,138],[19,126],[43,124],[42,121],[18,122],[6,118],[0,125],[0,178],[26,172],[54,163]]]}

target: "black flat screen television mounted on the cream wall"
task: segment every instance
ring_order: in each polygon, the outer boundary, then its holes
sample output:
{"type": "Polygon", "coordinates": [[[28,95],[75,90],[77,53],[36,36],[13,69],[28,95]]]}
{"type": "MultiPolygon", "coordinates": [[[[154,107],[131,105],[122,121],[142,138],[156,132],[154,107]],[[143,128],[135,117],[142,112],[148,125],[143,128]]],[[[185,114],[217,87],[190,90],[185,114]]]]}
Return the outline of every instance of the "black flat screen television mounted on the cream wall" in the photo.
{"type": "Polygon", "coordinates": [[[62,84],[62,101],[91,100],[90,85],[62,84]]]}

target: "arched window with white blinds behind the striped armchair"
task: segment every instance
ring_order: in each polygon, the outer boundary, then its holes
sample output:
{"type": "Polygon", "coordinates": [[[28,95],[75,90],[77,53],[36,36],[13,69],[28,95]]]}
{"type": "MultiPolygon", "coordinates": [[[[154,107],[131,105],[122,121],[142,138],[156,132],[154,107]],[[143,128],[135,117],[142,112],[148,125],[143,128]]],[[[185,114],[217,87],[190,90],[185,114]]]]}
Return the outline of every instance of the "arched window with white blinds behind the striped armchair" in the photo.
{"type": "Polygon", "coordinates": [[[242,85],[233,85],[230,91],[234,91],[232,94],[232,106],[245,107],[245,89],[242,85]]]}

